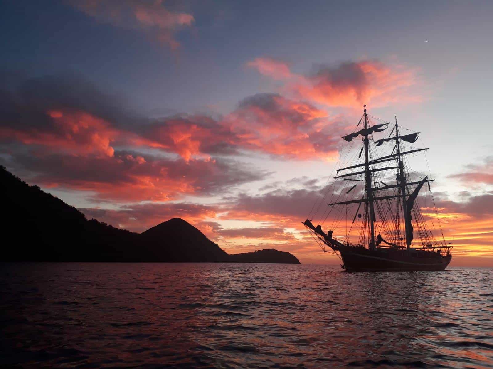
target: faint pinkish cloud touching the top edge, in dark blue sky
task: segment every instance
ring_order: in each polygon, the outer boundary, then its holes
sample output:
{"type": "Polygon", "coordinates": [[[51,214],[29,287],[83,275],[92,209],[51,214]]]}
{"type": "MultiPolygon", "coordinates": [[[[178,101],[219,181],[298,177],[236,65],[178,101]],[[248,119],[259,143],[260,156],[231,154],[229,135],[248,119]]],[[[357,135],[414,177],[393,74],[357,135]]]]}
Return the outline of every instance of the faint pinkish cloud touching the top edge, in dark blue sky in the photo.
{"type": "Polygon", "coordinates": [[[74,0],[72,4],[100,22],[152,32],[173,50],[180,46],[176,32],[194,22],[193,15],[169,10],[162,0],[74,0]]]}

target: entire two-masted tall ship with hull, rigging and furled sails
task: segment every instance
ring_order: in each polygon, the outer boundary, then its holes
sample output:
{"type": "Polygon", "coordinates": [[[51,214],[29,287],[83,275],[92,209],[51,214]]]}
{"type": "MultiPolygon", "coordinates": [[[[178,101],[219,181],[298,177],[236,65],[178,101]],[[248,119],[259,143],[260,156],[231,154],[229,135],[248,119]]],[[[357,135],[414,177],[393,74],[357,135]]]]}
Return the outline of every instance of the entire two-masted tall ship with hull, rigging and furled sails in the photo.
{"type": "Polygon", "coordinates": [[[346,271],[441,271],[449,265],[453,246],[441,229],[434,180],[409,169],[409,159],[428,150],[413,146],[419,133],[399,126],[397,117],[395,124],[373,117],[363,105],[354,132],[342,137],[344,166],[327,180],[303,224],[346,271]]]}

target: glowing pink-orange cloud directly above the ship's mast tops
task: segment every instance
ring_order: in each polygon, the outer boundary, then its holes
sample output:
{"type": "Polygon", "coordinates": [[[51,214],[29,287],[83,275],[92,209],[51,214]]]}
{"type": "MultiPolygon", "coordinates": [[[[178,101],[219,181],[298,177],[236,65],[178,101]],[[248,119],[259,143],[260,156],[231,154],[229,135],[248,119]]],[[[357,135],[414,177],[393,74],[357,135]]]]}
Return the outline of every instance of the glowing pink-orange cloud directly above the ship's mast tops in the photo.
{"type": "Polygon", "coordinates": [[[348,61],[320,64],[307,75],[292,73],[286,63],[270,58],[257,58],[247,65],[265,76],[283,80],[283,91],[296,98],[330,107],[380,107],[423,99],[412,91],[420,83],[416,70],[404,65],[388,65],[378,60],[348,61]]]}

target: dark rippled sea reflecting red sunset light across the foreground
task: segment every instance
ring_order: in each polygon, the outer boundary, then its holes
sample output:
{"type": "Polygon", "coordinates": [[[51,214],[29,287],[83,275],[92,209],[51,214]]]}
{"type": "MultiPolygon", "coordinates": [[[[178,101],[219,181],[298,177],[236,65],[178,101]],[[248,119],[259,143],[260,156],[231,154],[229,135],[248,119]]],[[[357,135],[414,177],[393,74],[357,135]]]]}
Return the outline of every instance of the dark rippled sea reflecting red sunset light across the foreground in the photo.
{"type": "Polygon", "coordinates": [[[493,368],[493,269],[1,264],[2,366],[493,368]]]}

